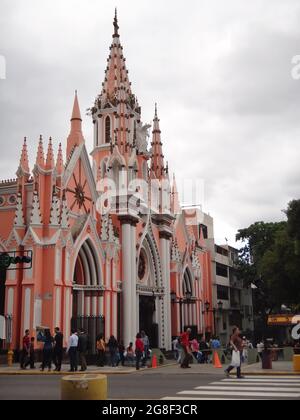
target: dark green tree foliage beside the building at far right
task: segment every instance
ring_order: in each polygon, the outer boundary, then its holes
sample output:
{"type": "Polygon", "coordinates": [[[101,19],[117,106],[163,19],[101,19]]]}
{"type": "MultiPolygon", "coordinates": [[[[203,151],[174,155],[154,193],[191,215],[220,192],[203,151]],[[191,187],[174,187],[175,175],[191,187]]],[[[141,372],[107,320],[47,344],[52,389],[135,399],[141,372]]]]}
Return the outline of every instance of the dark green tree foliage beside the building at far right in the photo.
{"type": "Polygon", "coordinates": [[[300,200],[289,203],[287,222],[257,222],[239,230],[238,274],[255,284],[254,311],[262,317],[281,305],[300,305],[300,200]]]}

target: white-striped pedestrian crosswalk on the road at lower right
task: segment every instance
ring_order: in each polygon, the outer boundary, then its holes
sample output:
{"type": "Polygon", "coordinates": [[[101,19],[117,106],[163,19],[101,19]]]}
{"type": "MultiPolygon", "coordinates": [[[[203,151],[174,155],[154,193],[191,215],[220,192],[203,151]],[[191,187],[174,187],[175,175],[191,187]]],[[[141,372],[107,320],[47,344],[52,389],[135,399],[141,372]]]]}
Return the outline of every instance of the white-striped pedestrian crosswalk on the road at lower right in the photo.
{"type": "Polygon", "coordinates": [[[257,400],[300,399],[300,377],[249,376],[222,379],[163,400],[257,400]]]}

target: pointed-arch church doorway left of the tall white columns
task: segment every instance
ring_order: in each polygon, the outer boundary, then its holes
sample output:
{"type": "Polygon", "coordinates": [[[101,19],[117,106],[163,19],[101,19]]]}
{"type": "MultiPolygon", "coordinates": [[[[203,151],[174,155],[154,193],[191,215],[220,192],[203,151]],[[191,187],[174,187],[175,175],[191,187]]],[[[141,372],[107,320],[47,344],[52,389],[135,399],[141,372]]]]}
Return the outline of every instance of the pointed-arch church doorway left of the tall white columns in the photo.
{"type": "Polygon", "coordinates": [[[71,328],[82,329],[88,334],[92,354],[96,353],[97,337],[105,336],[103,290],[97,251],[87,239],[80,248],[74,268],[71,328]]]}

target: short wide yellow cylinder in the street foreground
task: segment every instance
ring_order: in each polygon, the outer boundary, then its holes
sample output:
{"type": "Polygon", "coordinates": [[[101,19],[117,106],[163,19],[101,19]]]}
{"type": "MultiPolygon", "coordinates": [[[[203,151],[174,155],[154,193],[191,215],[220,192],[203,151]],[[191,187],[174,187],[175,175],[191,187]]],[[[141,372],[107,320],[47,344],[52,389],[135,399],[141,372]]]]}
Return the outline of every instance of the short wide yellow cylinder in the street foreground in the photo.
{"type": "Polygon", "coordinates": [[[61,379],[63,401],[107,400],[107,377],[105,375],[70,375],[61,379]]]}

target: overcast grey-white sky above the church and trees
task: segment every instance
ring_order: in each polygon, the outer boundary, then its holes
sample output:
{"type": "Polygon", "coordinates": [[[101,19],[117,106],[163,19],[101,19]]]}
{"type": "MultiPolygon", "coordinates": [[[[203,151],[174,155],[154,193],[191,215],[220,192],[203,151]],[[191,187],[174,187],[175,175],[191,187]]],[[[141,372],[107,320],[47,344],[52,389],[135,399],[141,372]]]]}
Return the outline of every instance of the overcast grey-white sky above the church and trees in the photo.
{"type": "MultiPolygon", "coordinates": [[[[24,136],[31,168],[40,134],[65,145],[75,89],[82,114],[92,105],[115,6],[143,121],[157,101],[165,156],[203,180],[217,242],[282,220],[300,198],[299,0],[0,0],[0,178],[15,176],[24,136]]],[[[91,150],[90,117],[84,132],[91,150]]]]}

